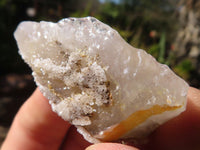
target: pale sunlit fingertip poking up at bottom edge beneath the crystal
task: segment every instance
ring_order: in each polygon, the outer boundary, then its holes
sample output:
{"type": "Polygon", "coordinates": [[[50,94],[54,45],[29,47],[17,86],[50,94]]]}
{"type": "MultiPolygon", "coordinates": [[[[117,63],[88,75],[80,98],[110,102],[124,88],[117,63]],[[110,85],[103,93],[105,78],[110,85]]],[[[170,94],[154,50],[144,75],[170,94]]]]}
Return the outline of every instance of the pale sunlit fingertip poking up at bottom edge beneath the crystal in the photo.
{"type": "Polygon", "coordinates": [[[117,143],[98,143],[91,145],[86,150],[139,150],[135,147],[117,144],[117,143]]]}

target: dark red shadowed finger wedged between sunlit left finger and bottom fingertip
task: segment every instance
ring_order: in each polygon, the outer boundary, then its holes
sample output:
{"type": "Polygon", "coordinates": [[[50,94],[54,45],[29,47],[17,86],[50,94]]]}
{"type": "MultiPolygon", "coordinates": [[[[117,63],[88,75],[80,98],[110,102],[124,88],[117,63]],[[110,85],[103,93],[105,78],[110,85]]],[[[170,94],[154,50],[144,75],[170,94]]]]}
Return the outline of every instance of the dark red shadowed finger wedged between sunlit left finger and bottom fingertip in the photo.
{"type": "Polygon", "coordinates": [[[62,150],[83,150],[91,145],[87,142],[82,135],[77,132],[76,127],[71,126],[67,132],[65,141],[62,146],[62,150]]]}

